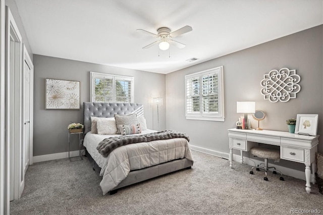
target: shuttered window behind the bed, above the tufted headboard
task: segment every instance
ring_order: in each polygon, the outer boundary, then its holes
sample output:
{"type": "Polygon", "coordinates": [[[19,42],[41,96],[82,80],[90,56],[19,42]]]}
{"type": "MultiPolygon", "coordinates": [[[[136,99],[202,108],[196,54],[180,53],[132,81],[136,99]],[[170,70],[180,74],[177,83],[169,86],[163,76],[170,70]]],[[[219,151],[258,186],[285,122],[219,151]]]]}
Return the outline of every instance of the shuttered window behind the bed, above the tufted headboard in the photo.
{"type": "Polygon", "coordinates": [[[92,102],[133,102],[134,78],[90,72],[92,102]]]}

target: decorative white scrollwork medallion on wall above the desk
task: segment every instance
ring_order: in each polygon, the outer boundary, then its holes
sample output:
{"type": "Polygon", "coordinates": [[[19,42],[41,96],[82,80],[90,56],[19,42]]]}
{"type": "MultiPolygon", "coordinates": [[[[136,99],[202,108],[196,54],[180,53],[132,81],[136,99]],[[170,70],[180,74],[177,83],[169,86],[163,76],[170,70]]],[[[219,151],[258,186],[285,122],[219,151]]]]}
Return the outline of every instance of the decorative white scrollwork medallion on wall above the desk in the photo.
{"type": "Polygon", "coordinates": [[[299,75],[296,75],[296,70],[287,68],[272,70],[268,74],[263,75],[264,79],[260,84],[261,94],[264,99],[271,102],[287,102],[291,98],[296,98],[296,93],[301,90],[298,84],[301,80],[299,75]]]}

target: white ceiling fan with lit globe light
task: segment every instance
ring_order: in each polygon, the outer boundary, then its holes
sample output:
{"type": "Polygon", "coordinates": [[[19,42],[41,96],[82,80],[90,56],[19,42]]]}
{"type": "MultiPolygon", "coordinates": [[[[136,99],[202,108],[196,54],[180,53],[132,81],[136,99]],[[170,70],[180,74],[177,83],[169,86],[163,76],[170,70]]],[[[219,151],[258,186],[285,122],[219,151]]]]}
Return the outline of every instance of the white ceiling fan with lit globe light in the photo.
{"type": "Polygon", "coordinates": [[[170,44],[175,45],[178,48],[184,48],[186,46],[185,44],[177,42],[177,41],[173,40],[172,38],[182,35],[182,34],[185,34],[185,33],[190,32],[192,30],[193,29],[191,26],[186,25],[183,28],[180,28],[172,33],[171,33],[171,30],[167,27],[158,28],[157,34],[151,33],[149,31],[145,31],[143,29],[137,29],[136,31],[158,38],[157,41],[154,41],[153,43],[150,43],[149,45],[144,46],[143,47],[144,49],[150,48],[151,46],[158,44],[159,48],[161,50],[167,50],[170,47],[170,44]]]}

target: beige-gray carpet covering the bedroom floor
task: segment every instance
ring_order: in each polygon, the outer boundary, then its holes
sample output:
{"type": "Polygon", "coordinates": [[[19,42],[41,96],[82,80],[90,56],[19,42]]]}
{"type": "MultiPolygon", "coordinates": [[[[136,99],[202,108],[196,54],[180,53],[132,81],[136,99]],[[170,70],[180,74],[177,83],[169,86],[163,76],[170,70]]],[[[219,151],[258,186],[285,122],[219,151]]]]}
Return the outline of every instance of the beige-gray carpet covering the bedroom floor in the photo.
{"type": "Polygon", "coordinates": [[[194,166],[102,195],[100,177],[87,158],[36,163],[29,167],[21,199],[11,214],[290,214],[316,209],[323,213],[317,185],[305,192],[305,181],[263,173],[250,167],[192,151],[194,166]]]}

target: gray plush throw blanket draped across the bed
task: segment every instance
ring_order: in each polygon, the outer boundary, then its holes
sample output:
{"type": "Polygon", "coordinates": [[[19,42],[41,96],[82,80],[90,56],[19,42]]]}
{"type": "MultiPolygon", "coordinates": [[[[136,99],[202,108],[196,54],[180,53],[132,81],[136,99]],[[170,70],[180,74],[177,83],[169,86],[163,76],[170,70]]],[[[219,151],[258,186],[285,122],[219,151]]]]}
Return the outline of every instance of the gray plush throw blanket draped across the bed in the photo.
{"type": "Polygon", "coordinates": [[[102,154],[103,157],[107,157],[107,155],[109,155],[115,148],[118,148],[119,146],[131,143],[150,142],[153,140],[167,140],[172,138],[185,138],[187,139],[187,141],[190,141],[189,137],[185,133],[181,133],[175,130],[164,130],[149,134],[125,135],[105,138],[98,144],[96,149],[100,154],[102,154]]]}

